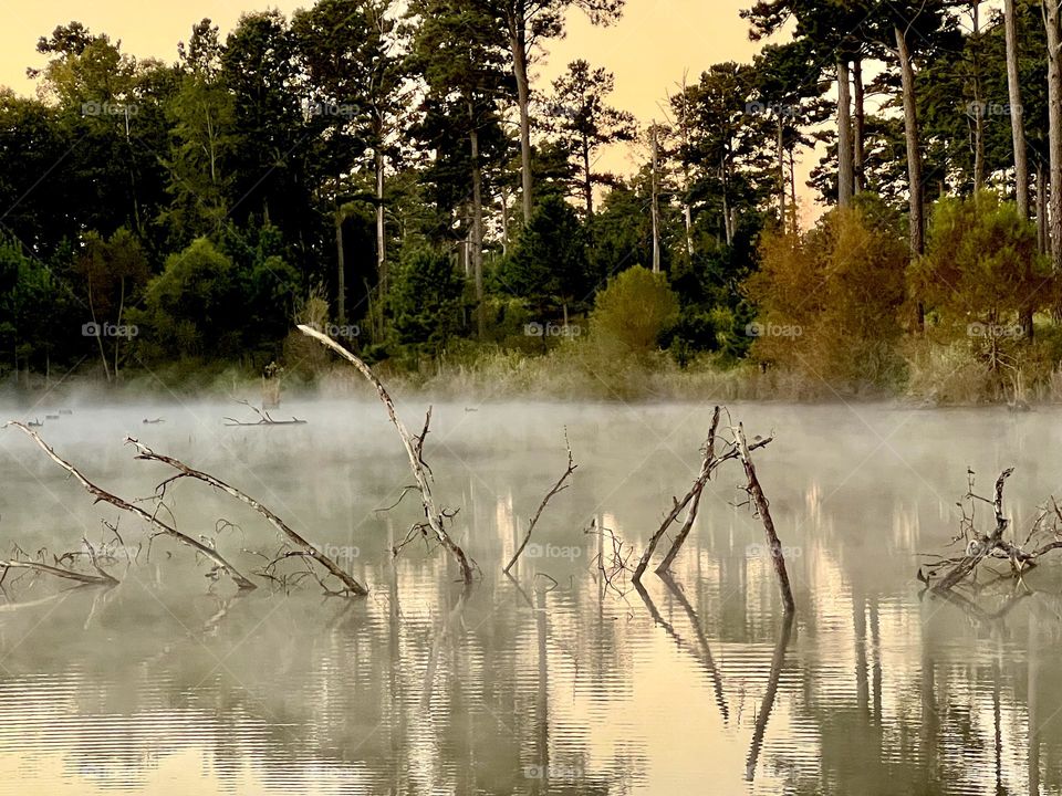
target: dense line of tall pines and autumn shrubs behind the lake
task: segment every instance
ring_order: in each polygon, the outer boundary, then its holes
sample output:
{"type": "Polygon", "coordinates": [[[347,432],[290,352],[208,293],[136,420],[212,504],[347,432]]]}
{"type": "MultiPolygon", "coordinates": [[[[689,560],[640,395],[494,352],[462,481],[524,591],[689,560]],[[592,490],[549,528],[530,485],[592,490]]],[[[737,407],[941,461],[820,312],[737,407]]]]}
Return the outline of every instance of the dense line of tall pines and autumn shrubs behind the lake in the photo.
{"type": "Polygon", "coordinates": [[[202,20],[173,63],[59,25],[37,96],[0,93],[0,369],[260,369],[293,317],[368,362],[584,318],[831,384],[904,378],[914,339],[1059,359],[1058,0],[761,0],[753,61],[676,75],[647,125],[586,60],[534,77],[570,14],[623,6],[320,0],[202,20]],[[598,167],[617,144],[634,174],[598,167]],[[801,230],[816,156],[833,209],[801,230]]]}

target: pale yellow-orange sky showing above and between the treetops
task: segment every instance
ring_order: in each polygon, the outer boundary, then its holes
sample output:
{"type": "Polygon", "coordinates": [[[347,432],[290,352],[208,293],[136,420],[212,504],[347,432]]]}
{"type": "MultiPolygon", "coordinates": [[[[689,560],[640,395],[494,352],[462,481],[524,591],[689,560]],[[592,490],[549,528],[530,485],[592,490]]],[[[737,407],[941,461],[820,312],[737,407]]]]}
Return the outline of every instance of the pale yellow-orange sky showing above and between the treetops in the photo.
{"type": "MultiPolygon", "coordinates": [[[[124,52],[139,59],[177,59],[177,42],[186,40],[194,23],[209,17],[230,30],[244,11],[279,8],[285,14],[312,4],[311,0],[38,0],[22,3],[19,13],[6,14],[0,27],[0,85],[32,94],[27,66],[43,65],[34,50],[37,40],[56,24],[73,20],[93,32],[121,40],[124,52]],[[148,10],[149,9],[149,10],[148,10]]],[[[663,119],[667,94],[675,93],[688,72],[690,82],[712,63],[750,61],[758,45],[749,41],[748,24],[738,17],[750,0],[627,0],[623,19],[610,28],[594,28],[573,12],[568,36],[549,42],[549,52],[535,67],[534,85],[549,82],[577,57],[615,73],[612,104],[629,111],[643,124],[663,119]]],[[[805,172],[813,158],[804,156],[805,172]]],[[[601,161],[618,172],[634,170],[635,153],[616,147],[601,161]]],[[[806,191],[805,191],[806,193],[806,191]]]]}

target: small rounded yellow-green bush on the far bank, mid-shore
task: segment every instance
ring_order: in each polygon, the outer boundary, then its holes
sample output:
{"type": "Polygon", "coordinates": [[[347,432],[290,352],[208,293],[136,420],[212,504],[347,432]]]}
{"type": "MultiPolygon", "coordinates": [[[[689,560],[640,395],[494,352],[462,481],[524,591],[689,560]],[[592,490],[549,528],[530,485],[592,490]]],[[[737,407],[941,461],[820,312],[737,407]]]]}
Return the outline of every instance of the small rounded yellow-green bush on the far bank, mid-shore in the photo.
{"type": "Polygon", "coordinates": [[[615,342],[634,355],[657,348],[660,333],[678,317],[678,297],[663,274],[636,265],[610,280],[590,316],[596,339],[615,342]]]}

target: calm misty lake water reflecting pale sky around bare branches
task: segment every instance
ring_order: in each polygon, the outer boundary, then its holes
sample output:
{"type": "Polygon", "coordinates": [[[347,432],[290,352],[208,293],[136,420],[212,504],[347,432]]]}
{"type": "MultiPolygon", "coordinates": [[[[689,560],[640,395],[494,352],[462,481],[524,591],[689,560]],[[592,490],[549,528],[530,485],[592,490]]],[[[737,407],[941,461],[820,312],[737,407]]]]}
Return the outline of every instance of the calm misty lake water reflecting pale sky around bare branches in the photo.
{"type": "MultiPolygon", "coordinates": [[[[482,579],[469,593],[423,542],[382,407],[285,404],[308,425],[226,428],[232,405],[69,405],[42,436],[101,486],[145,496],[169,473],[129,433],[260,498],[367,580],[368,598],[237,597],[155,540],[116,588],[41,578],[0,595],[0,794],[996,794],[1062,792],[1062,568],[1001,617],[919,599],[916,553],[956,530],[966,470],[1027,527],[1062,495],[1062,413],[733,406],[788,548],[795,624],[762,530],[720,472],[675,567],[646,591],[595,582],[593,519],[641,551],[699,469],[708,406],[435,408],[436,495],[482,579]],[[145,426],[145,417],[166,422],[145,426]],[[516,583],[502,576],[544,514],[516,583]],[[538,575],[541,573],[541,575],[538,575]],[[548,575],[549,577],[544,577],[548,575]]],[[[30,412],[43,418],[42,407],[30,412]]],[[[424,406],[402,407],[419,427],[424,406]]],[[[18,408],[4,417],[27,417],[18,408]]],[[[170,489],[187,533],[244,572],[277,535],[198,483],[170,489]]],[[[0,432],[0,540],[33,553],[113,538],[30,440],[0,432]]],[[[121,517],[127,546],[146,536],[121,517]]],[[[633,562],[633,559],[632,559],[633,562]]],[[[1002,597],[985,597],[988,614],[1002,597]]]]}

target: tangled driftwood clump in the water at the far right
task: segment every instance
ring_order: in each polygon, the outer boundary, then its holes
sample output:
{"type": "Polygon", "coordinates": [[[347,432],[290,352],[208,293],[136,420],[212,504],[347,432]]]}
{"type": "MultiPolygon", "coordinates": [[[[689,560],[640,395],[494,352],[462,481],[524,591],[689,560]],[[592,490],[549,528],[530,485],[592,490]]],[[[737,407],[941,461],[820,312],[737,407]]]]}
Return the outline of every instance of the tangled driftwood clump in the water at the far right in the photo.
{"type": "Polygon", "coordinates": [[[1020,580],[1025,572],[1037,566],[1041,556],[1062,548],[1062,510],[1054,498],[1050,499],[1048,506],[1041,507],[1023,542],[1004,538],[1010,528],[1010,520],[1003,514],[1003,488],[1013,471],[1013,468],[1008,468],[999,474],[991,499],[975,494],[975,473],[972,470],[967,471],[969,488],[965,500],[969,509],[961,502],[957,504],[962,510],[962,516],[959,521],[959,533],[950,542],[962,543],[964,552],[950,557],[930,555],[931,561],[918,568],[918,579],[936,594],[947,596],[951,589],[968,580],[976,586],[978,567],[993,561],[1007,562],[1010,575],[997,574],[992,583],[1010,578],[1020,580]],[[988,533],[979,532],[976,526],[979,503],[987,503],[992,509],[995,525],[988,533]]]}

